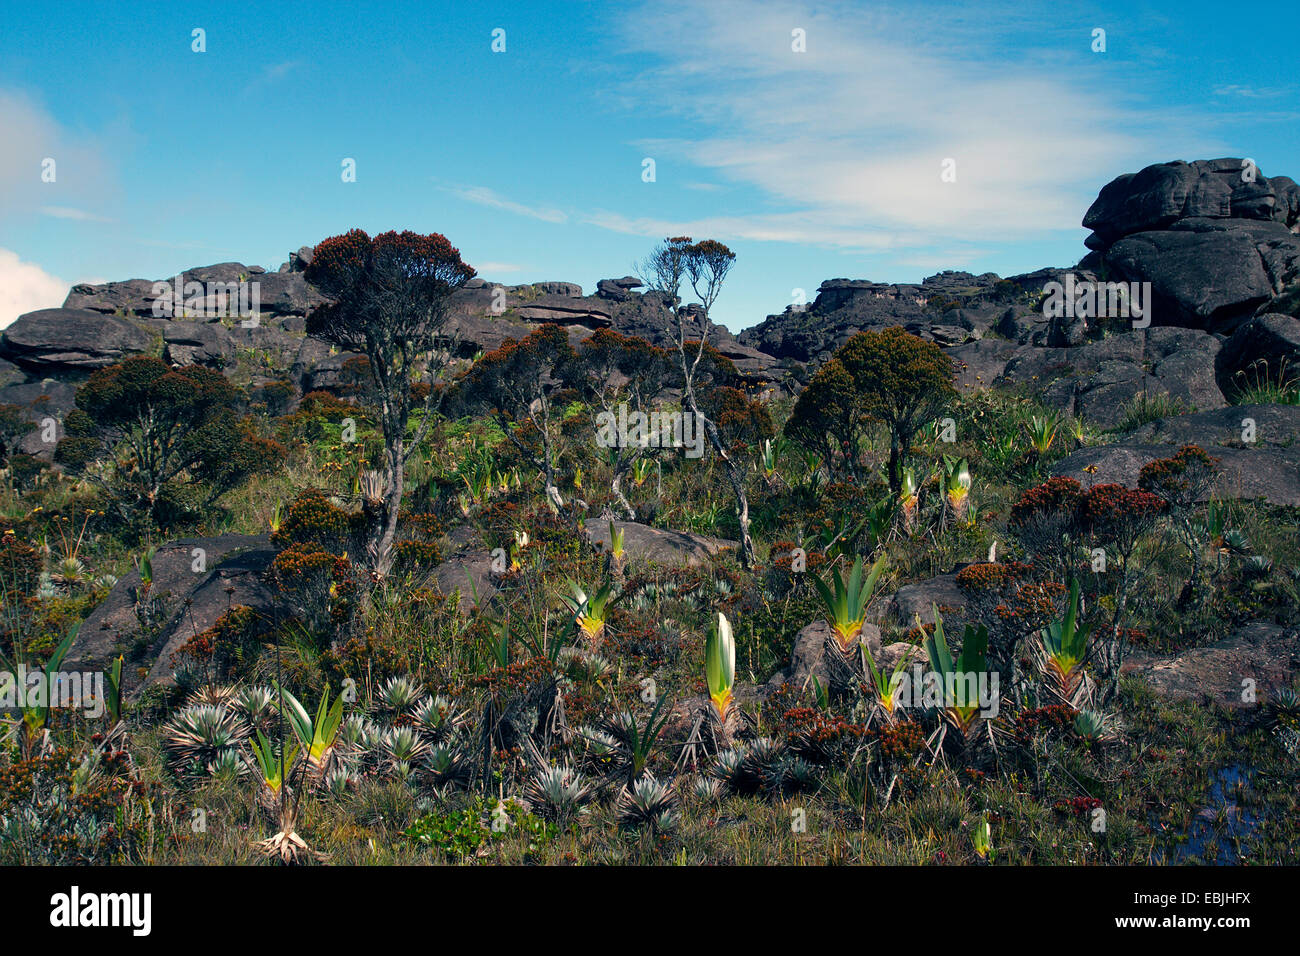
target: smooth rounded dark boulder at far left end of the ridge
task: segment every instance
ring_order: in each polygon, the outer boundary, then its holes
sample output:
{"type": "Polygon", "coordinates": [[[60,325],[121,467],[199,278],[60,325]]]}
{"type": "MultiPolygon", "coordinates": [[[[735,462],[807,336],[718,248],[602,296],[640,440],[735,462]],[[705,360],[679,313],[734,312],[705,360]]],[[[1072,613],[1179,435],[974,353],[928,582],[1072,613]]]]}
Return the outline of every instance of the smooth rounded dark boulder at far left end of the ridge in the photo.
{"type": "Polygon", "coordinates": [[[153,349],[131,323],[81,308],[43,308],[0,333],[0,358],[35,375],[88,375],[153,349]]]}

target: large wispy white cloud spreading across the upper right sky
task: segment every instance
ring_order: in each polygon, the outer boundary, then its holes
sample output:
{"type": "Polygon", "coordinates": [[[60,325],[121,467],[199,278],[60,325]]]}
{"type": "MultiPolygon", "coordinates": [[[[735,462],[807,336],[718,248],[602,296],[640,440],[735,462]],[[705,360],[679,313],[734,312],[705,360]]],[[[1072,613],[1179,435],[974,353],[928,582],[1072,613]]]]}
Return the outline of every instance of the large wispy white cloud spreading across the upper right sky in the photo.
{"type": "Polygon", "coordinates": [[[637,143],[646,155],[755,187],[780,211],[741,212],[731,232],[708,230],[719,238],[876,250],[1040,237],[1078,229],[1113,176],[1205,143],[1186,114],[1140,113],[1069,55],[1024,48],[1031,25],[1006,14],[655,3],[621,29],[659,68],[621,92],[699,130],[637,143]],[[796,27],[803,53],[790,49],[796,27]],[[956,182],[940,177],[949,157],[956,182]]]}

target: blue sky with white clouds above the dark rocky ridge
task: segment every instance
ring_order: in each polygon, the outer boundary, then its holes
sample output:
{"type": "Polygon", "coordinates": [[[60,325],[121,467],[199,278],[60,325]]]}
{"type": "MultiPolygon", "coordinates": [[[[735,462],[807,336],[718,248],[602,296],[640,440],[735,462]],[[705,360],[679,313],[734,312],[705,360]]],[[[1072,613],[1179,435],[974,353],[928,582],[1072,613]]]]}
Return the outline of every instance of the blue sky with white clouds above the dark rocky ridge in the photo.
{"type": "Polygon", "coordinates": [[[974,7],[9,4],[0,325],[72,282],[274,269],[361,226],[586,290],[715,237],[740,330],[829,277],[1071,264],[1097,190],[1150,163],[1300,178],[1297,4],[974,7]]]}

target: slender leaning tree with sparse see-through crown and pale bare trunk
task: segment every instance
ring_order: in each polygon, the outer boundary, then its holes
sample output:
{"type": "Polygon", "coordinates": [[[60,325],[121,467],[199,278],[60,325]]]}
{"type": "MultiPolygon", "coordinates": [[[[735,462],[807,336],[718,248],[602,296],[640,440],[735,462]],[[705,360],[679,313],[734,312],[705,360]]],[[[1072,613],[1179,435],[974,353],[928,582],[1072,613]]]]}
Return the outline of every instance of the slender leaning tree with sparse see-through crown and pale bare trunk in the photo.
{"type": "Polygon", "coordinates": [[[675,307],[672,338],[681,368],[682,405],[690,411],[697,427],[703,427],[714,453],[727,471],[732,494],[736,497],[736,518],[740,523],[740,558],[745,567],[754,566],[754,538],[749,533],[749,496],[745,490],[745,472],[736,458],[728,451],[727,442],[718,432],[718,425],[703,414],[697,394],[701,360],[708,346],[708,333],[712,330],[710,312],[723,284],[736,261],[736,254],[716,239],[692,242],[689,237],[677,235],[664,239],[651,251],[641,267],[642,278],[651,290],[663,293],[667,303],[675,307]],[[681,308],[681,284],[689,281],[698,308],[681,308]]]}

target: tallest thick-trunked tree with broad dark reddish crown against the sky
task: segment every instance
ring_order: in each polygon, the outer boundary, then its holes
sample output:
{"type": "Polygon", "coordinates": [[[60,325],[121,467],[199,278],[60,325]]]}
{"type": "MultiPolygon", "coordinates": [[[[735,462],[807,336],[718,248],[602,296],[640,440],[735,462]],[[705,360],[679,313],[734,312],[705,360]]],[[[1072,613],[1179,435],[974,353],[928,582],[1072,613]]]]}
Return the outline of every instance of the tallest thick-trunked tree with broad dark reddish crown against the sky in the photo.
{"type": "MultiPolygon", "coordinates": [[[[430,388],[424,418],[408,440],[412,381],[426,373],[433,385],[434,349],[452,294],[474,277],[460,252],[437,233],[382,233],[360,229],[321,242],[304,277],[332,302],[312,311],[307,332],[369,360],[373,395],[384,432],[384,468],[367,483],[367,561],[376,574],[393,566],[393,540],[402,510],[404,467],[428,433],[442,389],[430,388]]],[[[450,362],[450,346],[441,364],[450,362]]]]}

